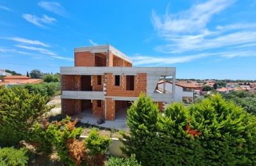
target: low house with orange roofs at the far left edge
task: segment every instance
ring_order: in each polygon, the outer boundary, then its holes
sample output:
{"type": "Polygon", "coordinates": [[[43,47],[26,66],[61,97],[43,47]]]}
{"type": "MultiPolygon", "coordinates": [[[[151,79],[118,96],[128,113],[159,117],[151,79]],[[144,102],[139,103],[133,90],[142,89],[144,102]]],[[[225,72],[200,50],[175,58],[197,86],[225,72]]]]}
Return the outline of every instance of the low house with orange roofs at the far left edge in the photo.
{"type": "Polygon", "coordinates": [[[3,85],[7,87],[17,84],[36,84],[43,81],[42,79],[30,79],[25,75],[8,75],[6,77],[3,77],[1,80],[2,81],[0,82],[0,86],[3,85]]]}

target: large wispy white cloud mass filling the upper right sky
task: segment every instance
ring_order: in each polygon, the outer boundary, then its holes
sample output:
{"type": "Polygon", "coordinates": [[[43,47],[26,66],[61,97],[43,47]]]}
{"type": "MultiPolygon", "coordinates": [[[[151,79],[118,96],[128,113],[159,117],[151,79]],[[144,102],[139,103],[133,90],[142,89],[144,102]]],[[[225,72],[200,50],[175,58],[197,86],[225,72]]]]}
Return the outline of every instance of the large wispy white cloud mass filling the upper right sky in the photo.
{"type": "Polygon", "coordinates": [[[256,42],[255,22],[236,22],[218,25],[208,29],[213,15],[234,4],[235,0],[211,0],[195,4],[189,10],[170,15],[152,11],[152,23],[166,41],[154,49],[158,52],[177,54],[181,52],[202,52],[203,50],[252,47],[256,42]]]}

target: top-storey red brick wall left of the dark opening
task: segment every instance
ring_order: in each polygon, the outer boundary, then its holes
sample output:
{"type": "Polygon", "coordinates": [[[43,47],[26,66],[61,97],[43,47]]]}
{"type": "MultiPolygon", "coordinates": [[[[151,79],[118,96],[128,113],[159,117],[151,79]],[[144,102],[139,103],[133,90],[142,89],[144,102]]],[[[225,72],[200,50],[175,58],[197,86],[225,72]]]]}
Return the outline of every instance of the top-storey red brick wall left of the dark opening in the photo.
{"type": "Polygon", "coordinates": [[[75,66],[94,66],[94,56],[90,51],[75,52],[75,66]]]}

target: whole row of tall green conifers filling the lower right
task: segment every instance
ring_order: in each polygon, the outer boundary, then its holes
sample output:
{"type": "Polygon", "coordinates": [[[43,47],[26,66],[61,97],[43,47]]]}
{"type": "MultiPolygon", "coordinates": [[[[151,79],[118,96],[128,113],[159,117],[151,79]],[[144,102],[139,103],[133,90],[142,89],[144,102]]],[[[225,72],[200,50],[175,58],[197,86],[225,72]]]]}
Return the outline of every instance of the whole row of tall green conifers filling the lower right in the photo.
{"type": "Polygon", "coordinates": [[[188,108],[173,103],[164,114],[155,107],[141,95],[128,110],[130,135],[122,133],[122,151],[142,165],[256,164],[256,117],[220,94],[188,108]]]}

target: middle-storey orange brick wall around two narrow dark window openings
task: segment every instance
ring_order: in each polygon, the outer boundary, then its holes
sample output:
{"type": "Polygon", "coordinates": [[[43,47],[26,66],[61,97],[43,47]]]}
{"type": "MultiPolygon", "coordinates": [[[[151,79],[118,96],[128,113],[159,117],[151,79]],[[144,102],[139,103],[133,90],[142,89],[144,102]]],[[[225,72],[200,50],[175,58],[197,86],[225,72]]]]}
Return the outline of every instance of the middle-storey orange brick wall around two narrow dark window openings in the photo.
{"type": "Polygon", "coordinates": [[[106,96],[138,97],[141,92],[147,93],[147,74],[134,75],[134,91],[126,90],[126,76],[120,75],[120,86],[115,86],[115,75],[106,73],[106,96]]]}

